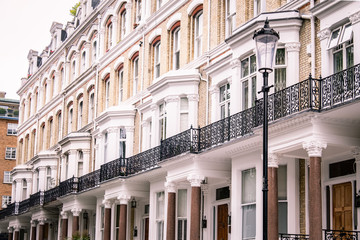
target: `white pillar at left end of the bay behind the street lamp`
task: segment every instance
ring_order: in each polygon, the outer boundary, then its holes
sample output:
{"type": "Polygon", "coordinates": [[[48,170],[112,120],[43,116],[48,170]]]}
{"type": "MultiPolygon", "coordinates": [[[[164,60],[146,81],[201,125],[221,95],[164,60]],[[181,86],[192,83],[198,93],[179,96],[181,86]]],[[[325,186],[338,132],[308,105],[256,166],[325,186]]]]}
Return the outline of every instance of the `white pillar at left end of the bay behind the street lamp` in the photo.
{"type": "MultiPolygon", "coordinates": [[[[231,81],[232,83],[230,86],[230,93],[231,93],[230,113],[234,114],[234,113],[240,112],[241,106],[242,106],[242,104],[241,104],[241,82],[240,82],[241,62],[238,58],[235,58],[231,61],[231,68],[232,68],[232,81],[231,81]]],[[[251,92],[251,91],[249,91],[249,92],[251,92]]],[[[216,99],[215,104],[217,104],[218,102],[219,102],[219,98],[216,99]]],[[[214,104],[214,103],[212,103],[212,104],[214,104]]],[[[220,119],[220,118],[218,118],[218,119],[220,119]]]]}

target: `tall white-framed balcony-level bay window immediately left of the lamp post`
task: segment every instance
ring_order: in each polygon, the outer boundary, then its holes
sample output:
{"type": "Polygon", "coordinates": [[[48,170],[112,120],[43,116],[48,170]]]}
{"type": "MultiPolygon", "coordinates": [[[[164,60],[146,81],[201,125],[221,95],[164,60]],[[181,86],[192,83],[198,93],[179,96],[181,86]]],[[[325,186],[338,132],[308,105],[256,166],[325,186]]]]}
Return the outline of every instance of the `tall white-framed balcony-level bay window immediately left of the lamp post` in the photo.
{"type": "Polygon", "coordinates": [[[255,106],[256,100],[256,56],[241,61],[242,108],[255,106]],[[251,90],[250,90],[251,89],[251,90]],[[249,104],[251,103],[251,105],[249,104]]]}

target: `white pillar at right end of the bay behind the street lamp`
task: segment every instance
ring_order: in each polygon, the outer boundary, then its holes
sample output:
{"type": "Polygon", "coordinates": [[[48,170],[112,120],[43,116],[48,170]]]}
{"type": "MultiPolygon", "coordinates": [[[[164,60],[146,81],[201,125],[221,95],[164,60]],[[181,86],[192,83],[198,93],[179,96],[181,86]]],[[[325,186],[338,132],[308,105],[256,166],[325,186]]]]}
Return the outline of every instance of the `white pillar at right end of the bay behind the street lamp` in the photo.
{"type": "MultiPolygon", "coordinates": [[[[287,56],[287,66],[286,66],[286,86],[291,86],[299,82],[300,74],[300,43],[292,42],[286,43],[285,49],[288,54],[287,56]]],[[[273,74],[274,75],[274,74],[273,74]]],[[[315,77],[315,76],[313,76],[315,77]]]]}

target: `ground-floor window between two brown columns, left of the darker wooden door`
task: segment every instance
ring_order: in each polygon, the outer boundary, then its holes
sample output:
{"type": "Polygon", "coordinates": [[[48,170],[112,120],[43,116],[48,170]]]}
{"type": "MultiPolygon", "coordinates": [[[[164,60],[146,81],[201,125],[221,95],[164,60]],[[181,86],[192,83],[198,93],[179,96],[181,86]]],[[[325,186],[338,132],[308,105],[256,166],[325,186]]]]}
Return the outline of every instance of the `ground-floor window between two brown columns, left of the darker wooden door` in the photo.
{"type": "Polygon", "coordinates": [[[178,190],[177,239],[186,240],[187,235],[187,190],[178,190]]]}

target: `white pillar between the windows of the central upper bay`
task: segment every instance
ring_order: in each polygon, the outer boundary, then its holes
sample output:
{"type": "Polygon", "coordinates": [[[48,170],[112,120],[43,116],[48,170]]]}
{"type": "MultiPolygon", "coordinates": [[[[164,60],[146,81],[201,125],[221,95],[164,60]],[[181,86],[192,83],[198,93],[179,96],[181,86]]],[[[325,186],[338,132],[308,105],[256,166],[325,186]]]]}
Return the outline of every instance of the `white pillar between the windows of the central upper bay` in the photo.
{"type": "Polygon", "coordinates": [[[168,96],[166,102],[166,138],[174,136],[180,132],[179,96],[168,96]],[[173,124],[175,123],[175,124],[173,124]]]}

